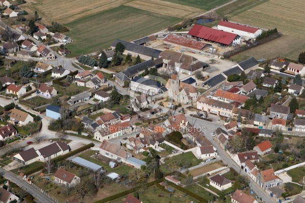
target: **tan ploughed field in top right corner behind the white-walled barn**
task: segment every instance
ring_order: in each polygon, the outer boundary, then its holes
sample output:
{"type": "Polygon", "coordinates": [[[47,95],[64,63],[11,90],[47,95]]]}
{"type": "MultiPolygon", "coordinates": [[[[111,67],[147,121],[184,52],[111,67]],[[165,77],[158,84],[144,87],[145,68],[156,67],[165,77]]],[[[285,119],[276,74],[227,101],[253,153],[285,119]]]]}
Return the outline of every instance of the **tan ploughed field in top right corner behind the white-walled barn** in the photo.
{"type": "Polygon", "coordinates": [[[270,0],[230,20],[265,29],[277,28],[287,36],[305,39],[305,1],[270,0]]]}

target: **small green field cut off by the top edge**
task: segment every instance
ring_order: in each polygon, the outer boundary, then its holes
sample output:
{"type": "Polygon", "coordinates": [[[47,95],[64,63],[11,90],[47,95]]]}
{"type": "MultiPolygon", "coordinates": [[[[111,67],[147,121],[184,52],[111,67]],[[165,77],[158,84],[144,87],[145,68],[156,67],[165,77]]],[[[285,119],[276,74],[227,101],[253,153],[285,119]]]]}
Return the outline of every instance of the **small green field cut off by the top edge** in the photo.
{"type": "MultiPolygon", "coordinates": [[[[211,10],[219,7],[223,4],[230,2],[231,0],[164,0],[165,2],[170,2],[174,4],[180,4],[184,6],[195,7],[203,10],[211,10]]],[[[247,0],[248,1],[248,0],[247,0]]]]}

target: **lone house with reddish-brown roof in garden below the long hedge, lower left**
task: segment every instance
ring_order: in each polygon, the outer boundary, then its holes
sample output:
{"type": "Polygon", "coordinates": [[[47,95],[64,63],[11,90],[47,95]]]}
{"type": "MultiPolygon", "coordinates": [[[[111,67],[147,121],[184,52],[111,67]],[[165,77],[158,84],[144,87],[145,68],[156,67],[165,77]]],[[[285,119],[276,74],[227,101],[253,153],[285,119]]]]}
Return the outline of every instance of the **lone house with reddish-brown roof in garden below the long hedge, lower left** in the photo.
{"type": "Polygon", "coordinates": [[[62,168],[58,168],[54,174],[54,181],[65,186],[73,186],[80,181],[80,178],[62,168]]]}

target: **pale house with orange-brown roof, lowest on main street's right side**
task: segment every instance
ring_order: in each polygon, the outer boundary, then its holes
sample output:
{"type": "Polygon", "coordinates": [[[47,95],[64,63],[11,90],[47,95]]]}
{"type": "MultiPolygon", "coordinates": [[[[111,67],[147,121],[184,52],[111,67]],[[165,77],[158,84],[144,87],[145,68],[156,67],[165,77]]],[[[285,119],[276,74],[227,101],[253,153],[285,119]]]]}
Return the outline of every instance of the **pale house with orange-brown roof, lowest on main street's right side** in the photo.
{"type": "Polygon", "coordinates": [[[257,183],[265,189],[273,186],[279,186],[283,183],[283,180],[275,174],[273,168],[270,168],[265,171],[261,171],[258,174],[257,183]]]}

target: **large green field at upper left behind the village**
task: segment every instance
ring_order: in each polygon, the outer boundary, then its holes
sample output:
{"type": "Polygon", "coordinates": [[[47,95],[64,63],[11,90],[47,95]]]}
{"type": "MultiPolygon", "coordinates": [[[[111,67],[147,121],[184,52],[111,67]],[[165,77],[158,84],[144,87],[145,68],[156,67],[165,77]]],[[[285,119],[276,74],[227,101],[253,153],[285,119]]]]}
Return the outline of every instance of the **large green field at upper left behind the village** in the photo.
{"type": "Polygon", "coordinates": [[[136,40],[160,31],[180,18],[161,15],[128,6],[119,6],[65,24],[74,43],[67,48],[73,53],[92,53],[108,48],[114,40],[136,40]]]}

